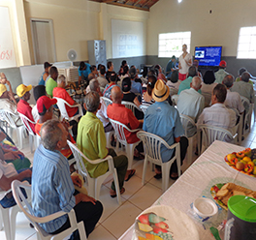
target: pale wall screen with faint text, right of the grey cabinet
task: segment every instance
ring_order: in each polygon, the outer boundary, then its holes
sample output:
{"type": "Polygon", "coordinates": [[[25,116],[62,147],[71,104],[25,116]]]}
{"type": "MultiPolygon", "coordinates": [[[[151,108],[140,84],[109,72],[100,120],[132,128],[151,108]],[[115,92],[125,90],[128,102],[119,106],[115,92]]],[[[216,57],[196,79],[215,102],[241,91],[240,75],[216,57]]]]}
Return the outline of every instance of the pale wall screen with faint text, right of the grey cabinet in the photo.
{"type": "Polygon", "coordinates": [[[144,23],[112,19],[112,58],[144,55],[144,23]]]}

